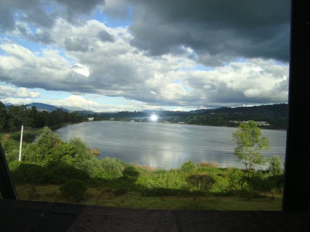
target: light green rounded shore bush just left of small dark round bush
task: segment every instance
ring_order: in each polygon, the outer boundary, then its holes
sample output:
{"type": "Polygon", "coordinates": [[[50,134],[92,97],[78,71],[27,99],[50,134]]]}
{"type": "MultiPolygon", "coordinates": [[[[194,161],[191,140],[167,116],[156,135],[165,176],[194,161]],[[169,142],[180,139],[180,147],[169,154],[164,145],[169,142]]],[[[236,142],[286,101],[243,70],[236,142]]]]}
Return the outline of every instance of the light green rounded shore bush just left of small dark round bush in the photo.
{"type": "Polygon", "coordinates": [[[123,164],[120,160],[106,157],[101,160],[101,177],[107,180],[117,179],[122,176],[123,164]]]}

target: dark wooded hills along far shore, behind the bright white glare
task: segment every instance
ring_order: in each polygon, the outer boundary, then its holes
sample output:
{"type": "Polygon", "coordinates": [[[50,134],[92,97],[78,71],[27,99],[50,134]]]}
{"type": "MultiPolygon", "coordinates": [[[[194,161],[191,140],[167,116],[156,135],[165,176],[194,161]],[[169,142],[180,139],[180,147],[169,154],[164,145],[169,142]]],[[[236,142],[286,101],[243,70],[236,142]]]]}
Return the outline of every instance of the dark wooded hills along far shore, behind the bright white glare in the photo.
{"type": "Polygon", "coordinates": [[[283,129],[287,128],[287,112],[288,104],[280,103],[273,105],[260,105],[251,107],[235,107],[235,108],[218,108],[204,109],[190,112],[183,111],[122,111],[118,113],[93,113],[83,112],[88,117],[94,117],[94,120],[137,120],[148,122],[152,114],[158,116],[157,122],[179,123],[205,125],[205,126],[227,126],[236,127],[239,124],[232,121],[265,121],[270,124],[268,126],[260,126],[267,129],[283,129]]]}

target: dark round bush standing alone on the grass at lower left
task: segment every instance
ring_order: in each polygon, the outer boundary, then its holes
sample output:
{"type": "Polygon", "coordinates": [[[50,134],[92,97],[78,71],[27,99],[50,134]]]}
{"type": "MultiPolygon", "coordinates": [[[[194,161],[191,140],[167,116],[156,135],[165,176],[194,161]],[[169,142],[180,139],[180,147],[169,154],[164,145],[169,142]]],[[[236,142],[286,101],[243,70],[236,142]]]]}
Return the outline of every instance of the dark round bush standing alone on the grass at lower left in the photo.
{"type": "Polygon", "coordinates": [[[69,202],[80,202],[85,199],[87,186],[81,180],[71,179],[61,185],[59,190],[63,199],[69,202]]]}

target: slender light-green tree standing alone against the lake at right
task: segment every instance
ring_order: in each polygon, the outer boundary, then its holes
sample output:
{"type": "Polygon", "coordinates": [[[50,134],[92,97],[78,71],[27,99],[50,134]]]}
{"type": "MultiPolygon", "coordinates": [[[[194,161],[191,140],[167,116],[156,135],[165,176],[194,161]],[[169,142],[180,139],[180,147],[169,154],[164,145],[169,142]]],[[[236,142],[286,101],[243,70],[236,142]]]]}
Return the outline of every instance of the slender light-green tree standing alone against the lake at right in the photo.
{"type": "Polygon", "coordinates": [[[254,121],[241,123],[238,129],[233,132],[233,142],[237,143],[234,154],[246,166],[248,176],[249,171],[255,165],[265,163],[265,159],[260,152],[269,148],[269,141],[267,137],[262,135],[261,129],[254,121]]]}

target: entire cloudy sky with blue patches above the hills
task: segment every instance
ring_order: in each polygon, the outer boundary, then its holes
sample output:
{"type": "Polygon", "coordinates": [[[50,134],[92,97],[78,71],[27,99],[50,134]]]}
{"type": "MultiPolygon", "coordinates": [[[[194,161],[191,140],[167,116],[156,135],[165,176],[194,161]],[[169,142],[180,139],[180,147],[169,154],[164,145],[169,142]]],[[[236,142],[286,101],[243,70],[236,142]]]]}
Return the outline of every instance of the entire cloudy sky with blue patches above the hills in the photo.
{"type": "Polygon", "coordinates": [[[289,0],[1,0],[0,101],[94,112],[287,102],[289,0]]]}

